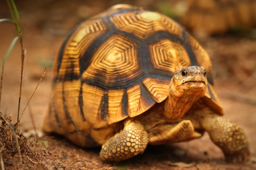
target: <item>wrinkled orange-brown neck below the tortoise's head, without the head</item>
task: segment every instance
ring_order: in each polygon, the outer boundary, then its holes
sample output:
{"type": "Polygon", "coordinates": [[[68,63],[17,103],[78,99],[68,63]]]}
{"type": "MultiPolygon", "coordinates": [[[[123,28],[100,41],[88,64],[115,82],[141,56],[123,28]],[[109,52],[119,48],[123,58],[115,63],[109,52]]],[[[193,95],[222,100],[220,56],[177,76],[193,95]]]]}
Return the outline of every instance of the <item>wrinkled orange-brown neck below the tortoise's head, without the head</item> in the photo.
{"type": "Polygon", "coordinates": [[[164,103],[164,117],[168,122],[173,122],[176,119],[181,118],[193,103],[201,97],[201,94],[181,94],[179,92],[172,91],[171,89],[164,103]]]}

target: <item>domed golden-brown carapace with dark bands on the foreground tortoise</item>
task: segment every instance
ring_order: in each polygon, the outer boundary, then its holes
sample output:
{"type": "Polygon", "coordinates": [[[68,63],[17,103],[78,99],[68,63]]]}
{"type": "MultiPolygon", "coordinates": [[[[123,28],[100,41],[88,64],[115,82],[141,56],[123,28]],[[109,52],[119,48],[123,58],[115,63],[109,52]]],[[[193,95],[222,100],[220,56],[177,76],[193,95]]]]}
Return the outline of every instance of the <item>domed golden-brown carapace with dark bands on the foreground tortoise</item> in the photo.
{"type": "Polygon", "coordinates": [[[113,6],[76,26],[61,46],[47,122],[64,133],[140,115],[167,98],[176,70],[193,65],[206,68],[204,101],[222,114],[210,58],[182,26],[158,12],[113,6]]]}

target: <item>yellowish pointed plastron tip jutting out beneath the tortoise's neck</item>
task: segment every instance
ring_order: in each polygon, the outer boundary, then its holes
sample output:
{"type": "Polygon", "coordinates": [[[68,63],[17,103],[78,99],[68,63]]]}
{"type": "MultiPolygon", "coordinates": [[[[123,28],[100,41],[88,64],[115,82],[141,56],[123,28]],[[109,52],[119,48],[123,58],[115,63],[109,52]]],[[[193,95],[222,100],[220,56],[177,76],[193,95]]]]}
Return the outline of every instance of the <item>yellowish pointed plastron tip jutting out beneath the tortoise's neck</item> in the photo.
{"type": "Polygon", "coordinates": [[[189,120],[159,124],[148,132],[149,144],[183,142],[201,136],[200,133],[195,132],[189,120]]]}

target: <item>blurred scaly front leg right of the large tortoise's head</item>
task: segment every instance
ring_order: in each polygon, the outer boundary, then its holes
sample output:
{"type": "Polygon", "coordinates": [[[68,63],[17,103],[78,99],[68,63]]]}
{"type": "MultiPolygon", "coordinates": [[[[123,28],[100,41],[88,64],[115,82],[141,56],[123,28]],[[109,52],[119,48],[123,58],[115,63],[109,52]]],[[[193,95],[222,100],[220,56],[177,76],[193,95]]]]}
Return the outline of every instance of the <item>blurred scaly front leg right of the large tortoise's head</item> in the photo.
{"type": "Polygon", "coordinates": [[[239,163],[248,159],[249,143],[240,126],[209,109],[197,111],[195,116],[209,133],[214,144],[221,148],[228,162],[239,163]]]}

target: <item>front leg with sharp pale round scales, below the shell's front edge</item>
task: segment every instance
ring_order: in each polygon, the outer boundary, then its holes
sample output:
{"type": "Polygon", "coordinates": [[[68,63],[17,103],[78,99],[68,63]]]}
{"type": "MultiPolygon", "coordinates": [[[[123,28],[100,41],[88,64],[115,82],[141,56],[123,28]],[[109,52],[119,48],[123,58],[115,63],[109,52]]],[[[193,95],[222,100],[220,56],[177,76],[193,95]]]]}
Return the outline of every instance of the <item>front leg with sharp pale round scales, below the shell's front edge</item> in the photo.
{"type": "Polygon", "coordinates": [[[121,161],[143,153],[148,145],[148,133],[137,120],[127,120],[124,129],[102,145],[100,159],[121,161]]]}

